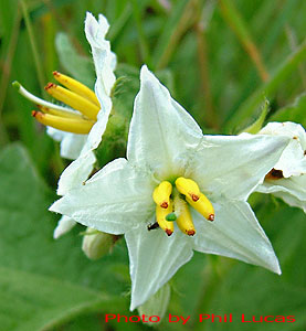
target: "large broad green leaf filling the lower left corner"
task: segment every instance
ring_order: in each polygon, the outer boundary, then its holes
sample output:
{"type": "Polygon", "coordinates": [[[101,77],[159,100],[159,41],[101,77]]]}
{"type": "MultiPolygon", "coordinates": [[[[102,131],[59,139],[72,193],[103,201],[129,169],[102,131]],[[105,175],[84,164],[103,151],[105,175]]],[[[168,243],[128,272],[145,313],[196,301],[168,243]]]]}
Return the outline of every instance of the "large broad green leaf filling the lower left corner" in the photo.
{"type": "Polygon", "coordinates": [[[114,263],[127,265],[123,243],[112,256],[89,261],[80,227],[54,241],[48,207],[55,196],[20,145],[0,152],[0,182],[1,329],[48,330],[87,310],[126,311],[128,298],[114,299],[129,286],[114,271],[114,263]]]}

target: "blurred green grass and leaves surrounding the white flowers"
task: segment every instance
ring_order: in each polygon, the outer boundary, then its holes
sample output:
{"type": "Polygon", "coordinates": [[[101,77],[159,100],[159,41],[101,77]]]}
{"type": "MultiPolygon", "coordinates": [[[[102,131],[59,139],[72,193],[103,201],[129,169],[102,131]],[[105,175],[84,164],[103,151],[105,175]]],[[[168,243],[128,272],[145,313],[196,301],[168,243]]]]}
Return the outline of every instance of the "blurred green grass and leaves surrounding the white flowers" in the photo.
{"type": "MultiPolygon", "coordinates": [[[[31,117],[17,79],[48,99],[43,86],[59,70],[93,87],[84,35],[85,12],[105,14],[117,54],[116,76],[131,111],[146,63],[205,134],[236,134],[256,119],[306,127],[306,1],[304,0],[0,0],[0,330],[144,330],[103,322],[129,316],[128,258],[120,241],[91,261],[82,227],[54,241],[59,216],[48,212],[68,163],[31,117]]],[[[252,206],[271,238],[283,275],[228,258],[196,254],[171,280],[168,312],[191,316],[159,330],[306,330],[305,214],[268,195],[252,206]],[[303,243],[304,241],[304,243],[303,243]],[[199,313],[233,313],[232,323],[199,323],[199,313]],[[296,322],[239,322],[246,317],[295,316],[296,322]]],[[[134,312],[137,314],[137,312],[134,312]]]]}

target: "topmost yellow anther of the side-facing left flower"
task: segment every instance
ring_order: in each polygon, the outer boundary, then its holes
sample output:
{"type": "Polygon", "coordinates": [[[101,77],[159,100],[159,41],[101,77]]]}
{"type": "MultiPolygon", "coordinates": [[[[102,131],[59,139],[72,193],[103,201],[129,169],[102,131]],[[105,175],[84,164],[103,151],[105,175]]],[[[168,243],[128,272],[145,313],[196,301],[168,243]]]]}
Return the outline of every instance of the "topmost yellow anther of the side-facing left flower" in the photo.
{"type": "Polygon", "coordinates": [[[99,102],[98,102],[95,93],[91,88],[88,88],[84,84],[82,84],[66,75],[63,75],[59,72],[53,72],[53,76],[59,83],[64,85],[66,88],[83,96],[84,98],[86,98],[87,100],[92,102],[97,107],[99,107],[99,102]]]}

